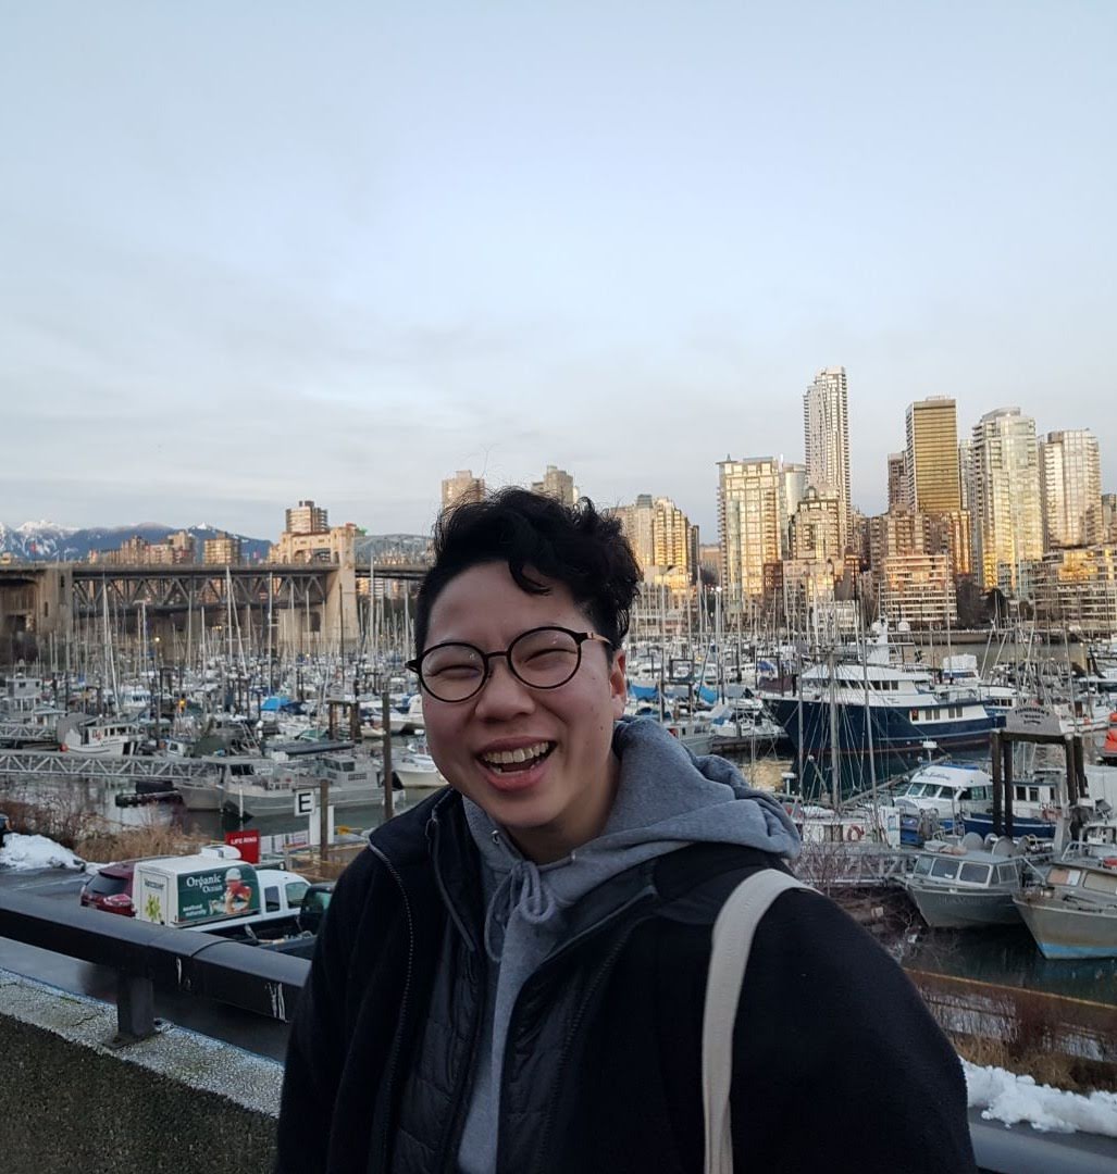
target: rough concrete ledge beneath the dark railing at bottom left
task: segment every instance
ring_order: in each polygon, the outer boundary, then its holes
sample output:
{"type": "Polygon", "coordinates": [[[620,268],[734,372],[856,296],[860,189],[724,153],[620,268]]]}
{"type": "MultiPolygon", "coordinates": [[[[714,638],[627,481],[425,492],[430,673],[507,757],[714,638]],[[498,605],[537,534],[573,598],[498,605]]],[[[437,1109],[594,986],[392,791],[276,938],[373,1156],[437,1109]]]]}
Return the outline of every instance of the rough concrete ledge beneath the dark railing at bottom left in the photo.
{"type": "Polygon", "coordinates": [[[115,1007],[0,971],[6,1174],[271,1169],[281,1064],[181,1027],[115,1032],[115,1007]]]}

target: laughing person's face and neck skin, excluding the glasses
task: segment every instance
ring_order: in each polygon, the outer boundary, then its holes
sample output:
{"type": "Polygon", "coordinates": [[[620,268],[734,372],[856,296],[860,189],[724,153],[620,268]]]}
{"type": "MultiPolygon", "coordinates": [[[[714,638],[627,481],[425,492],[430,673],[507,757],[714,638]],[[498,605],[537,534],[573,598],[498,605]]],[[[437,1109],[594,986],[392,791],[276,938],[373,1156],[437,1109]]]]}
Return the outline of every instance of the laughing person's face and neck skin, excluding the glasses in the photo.
{"type": "MultiPolygon", "coordinates": [[[[489,653],[544,625],[593,629],[564,585],[532,578],[550,592],[520,591],[503,562],[462,572],[431,608],[426,648],[463,641],[489,653]]],[[[610,664],[605,643],[585,641],[578,672],[557,689],[518,681],[506,657],[490,664],[489,680],[467,701],[443,702],[424,691],[431,755],[446,781],[484,808],[526,856],[559,859],[597,836],[612,808],[618,770],[612,737],[625,707],[624,653],[614,653],[610,664]],[[500,769],[496,756],[513,750],[533,753],[517,769],[509,763],[500,769]]]]}

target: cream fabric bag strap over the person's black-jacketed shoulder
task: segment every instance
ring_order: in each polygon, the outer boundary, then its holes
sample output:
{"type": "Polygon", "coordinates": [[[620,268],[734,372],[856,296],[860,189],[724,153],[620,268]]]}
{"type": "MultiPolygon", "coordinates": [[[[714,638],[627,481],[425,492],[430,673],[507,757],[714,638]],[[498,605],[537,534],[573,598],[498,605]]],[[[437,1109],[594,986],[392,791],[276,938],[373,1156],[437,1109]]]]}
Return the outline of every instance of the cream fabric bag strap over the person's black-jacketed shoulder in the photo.
{"type": "Polygon", "coordinates": [[[706,1174],[733,1174],[729,1086],[733,1081],[733,1026],[753,935],[768,906],[788,889],[809,885],[779,869],[761,869],[729,893],[714,922],[713,950],[702,1012],[702,1115],[706,1174]]]}

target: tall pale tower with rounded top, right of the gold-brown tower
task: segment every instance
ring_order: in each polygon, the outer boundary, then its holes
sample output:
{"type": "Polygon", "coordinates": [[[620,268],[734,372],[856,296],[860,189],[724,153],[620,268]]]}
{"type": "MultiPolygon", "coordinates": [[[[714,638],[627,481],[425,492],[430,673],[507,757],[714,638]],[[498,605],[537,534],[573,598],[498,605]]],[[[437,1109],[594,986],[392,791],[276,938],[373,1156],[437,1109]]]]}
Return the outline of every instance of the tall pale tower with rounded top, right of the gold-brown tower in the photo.
{"type": "Polygon", "coordinates": [[[1036,421],[1018,407],[987,412],[973,452],[974,569],[983,587],[1016,594],[1021,564],[1043,558],[1036,421]]]}

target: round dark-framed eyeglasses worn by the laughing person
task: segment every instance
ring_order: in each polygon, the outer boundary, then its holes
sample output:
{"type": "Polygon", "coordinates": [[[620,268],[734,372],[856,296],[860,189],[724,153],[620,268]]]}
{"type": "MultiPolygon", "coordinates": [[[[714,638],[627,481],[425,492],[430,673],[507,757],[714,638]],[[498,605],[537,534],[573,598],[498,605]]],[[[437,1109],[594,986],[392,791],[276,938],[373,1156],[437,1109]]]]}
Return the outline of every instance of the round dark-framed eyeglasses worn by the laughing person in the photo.
{"type": "Polygon", "coordinates": [[[607,636],[595,632],[571,632],[546,627],[522,632],[507,648],[484,653],[475,645],[450,641],[428,648],[408,668],[436,701],[469,701],[480,693],[492,674],[492,660],[504,656],[512,675],[531,689],[557,689],[578,672],[581,646],[597,640],[613,647],[607,636]]]}

